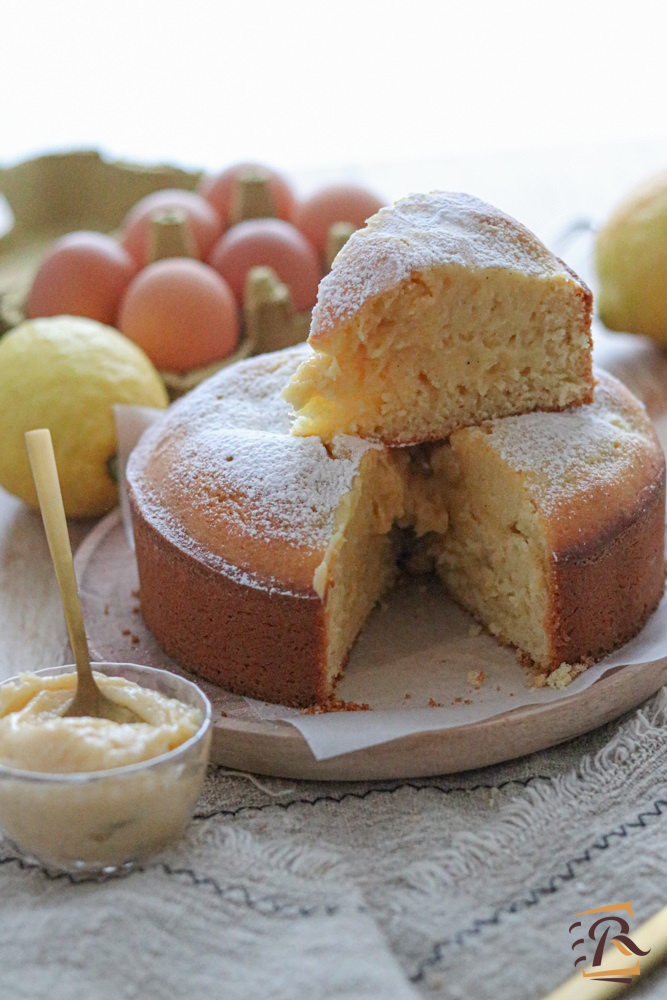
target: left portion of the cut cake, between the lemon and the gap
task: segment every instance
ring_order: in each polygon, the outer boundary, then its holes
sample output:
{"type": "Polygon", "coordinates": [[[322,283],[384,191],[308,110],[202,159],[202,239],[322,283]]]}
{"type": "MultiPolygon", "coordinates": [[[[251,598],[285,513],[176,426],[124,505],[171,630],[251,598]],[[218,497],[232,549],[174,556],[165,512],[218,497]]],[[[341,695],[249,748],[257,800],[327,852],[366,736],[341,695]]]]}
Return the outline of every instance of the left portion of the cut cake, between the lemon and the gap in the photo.
{"type": "Polygon", "coordinates": [[[290,433],[302,348],[223,369],[127,468],[144,619],[167,653],[241,694],[321,702],[395,572],[403,482],[386,449],[290,433]]]}

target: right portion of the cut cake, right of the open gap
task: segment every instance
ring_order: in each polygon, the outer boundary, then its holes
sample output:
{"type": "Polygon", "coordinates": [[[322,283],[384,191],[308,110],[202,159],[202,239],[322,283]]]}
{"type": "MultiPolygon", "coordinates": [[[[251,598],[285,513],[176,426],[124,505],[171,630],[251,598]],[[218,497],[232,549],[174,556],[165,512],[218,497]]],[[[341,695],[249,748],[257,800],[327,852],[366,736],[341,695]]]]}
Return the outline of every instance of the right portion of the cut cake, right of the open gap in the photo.
{"type": "Polygon", "coordinates": [[[439,575],[543,674],[623,645],[664,586],[664,455],[641,403],[596,375],[590,406],[455,431],[429,457],[439,575]]]}

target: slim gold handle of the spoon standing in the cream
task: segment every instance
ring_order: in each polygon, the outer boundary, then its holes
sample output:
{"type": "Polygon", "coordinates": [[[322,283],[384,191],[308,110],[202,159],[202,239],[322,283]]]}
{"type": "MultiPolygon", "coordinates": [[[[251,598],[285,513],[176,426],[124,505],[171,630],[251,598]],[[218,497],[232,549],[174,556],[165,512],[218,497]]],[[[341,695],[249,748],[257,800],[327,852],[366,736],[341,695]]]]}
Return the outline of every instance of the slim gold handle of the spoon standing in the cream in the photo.
{"type": "Polygon", "coordinates": [[[79,689],[89,685],[94,688],[95,682],[90,669],[88,640],[83,624],[81,601],[74,573],[72,547],[67,531],[67,518],[60,491],[51,432],[47,428],[27,431],[25,442],[37,487],[37,496],[39,497],[51,559],[60,587],[70,644],[76,660],[79,689]]]}

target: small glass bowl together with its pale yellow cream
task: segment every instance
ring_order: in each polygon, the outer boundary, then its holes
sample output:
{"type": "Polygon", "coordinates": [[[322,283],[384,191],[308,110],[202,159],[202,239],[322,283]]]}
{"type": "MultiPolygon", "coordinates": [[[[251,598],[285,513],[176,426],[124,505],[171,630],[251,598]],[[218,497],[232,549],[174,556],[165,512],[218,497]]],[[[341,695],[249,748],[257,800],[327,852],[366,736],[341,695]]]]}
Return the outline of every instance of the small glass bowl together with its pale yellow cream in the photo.
{"type": "Polygon", "coordinates": [[[92,666],[103,692],[140,722],[64,716],[73,666],[0,684],[0,830],[28,862],[114,874],[185,830],[209,759],[211,705],[165,670],[92,666]]]}

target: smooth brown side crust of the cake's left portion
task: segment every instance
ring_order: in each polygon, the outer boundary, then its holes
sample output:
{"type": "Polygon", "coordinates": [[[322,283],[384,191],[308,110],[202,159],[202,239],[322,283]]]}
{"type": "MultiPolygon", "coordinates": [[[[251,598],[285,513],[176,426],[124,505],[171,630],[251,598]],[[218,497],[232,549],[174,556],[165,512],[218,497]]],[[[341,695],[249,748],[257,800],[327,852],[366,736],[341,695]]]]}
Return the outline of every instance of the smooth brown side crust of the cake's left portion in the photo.
{"type": "Polygon", "coordinates": [[[130,492],[141,610],[165,652],[229,691],[284,705],[323,702],[327,629],[311,588],[252,586],[213,568],[145,519],[130,492]]]}

